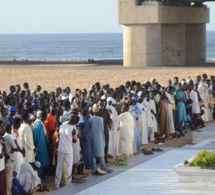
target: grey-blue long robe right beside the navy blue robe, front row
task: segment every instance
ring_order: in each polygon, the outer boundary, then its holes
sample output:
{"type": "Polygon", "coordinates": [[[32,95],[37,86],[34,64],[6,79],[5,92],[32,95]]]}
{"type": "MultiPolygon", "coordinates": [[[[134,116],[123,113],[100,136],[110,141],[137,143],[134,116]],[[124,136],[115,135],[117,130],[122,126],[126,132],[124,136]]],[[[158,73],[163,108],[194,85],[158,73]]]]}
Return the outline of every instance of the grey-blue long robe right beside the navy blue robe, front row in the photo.
{"type": "Polygon", "coordinates": [[[91,130],[91,149],[93,157],[104,156],[105,137],[103,118],[93,116],[89,119],[91,130]]]}

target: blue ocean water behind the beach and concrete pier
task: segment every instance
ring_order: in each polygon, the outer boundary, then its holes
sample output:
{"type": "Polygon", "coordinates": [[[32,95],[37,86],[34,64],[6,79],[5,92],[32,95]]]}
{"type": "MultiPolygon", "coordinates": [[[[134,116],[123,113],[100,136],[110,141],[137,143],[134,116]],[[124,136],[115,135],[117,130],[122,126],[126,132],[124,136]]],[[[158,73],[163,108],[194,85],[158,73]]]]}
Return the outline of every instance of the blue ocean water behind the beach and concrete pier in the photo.
{"type": "MultiPolygon", "coordinates": [[[[122,42],[122,33],[0,34],[0,59],[122,59],[122,42]]],[[[215,31],[207,32],[206,56],[215,61],[215,31]]]]}

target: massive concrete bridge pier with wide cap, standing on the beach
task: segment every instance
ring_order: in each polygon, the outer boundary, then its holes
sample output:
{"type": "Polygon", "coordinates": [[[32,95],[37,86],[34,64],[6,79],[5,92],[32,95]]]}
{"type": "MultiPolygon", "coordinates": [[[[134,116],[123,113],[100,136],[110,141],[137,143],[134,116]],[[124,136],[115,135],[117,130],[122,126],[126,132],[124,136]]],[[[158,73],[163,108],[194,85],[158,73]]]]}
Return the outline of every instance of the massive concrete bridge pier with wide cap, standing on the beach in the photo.
{"type": "Polygon", "coordinates": [[[205,64],[210,10],[204,2],[119,0],[124,66],[205,64]]]}

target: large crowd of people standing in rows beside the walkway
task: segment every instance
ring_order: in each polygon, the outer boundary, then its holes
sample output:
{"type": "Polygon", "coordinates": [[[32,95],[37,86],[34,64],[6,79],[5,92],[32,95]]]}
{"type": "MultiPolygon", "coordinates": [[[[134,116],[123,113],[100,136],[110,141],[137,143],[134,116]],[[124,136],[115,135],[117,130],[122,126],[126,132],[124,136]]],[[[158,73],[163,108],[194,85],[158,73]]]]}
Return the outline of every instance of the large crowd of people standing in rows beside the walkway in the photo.
{"type": "Polygon", "coordinates": [[[175,77],[165,87],[152,78],[116,88],[96,82],[74,93],[31,91],[28,83],[9,90],[0,98],[1,195],[48,190],[46,175],[55,176],[56,189],[85,182],[76,177],[84,169],[105,175],[109,156],[126,160],[150,141],[203,127],[215,113],[215,78],[206,74],[175,77]]]}

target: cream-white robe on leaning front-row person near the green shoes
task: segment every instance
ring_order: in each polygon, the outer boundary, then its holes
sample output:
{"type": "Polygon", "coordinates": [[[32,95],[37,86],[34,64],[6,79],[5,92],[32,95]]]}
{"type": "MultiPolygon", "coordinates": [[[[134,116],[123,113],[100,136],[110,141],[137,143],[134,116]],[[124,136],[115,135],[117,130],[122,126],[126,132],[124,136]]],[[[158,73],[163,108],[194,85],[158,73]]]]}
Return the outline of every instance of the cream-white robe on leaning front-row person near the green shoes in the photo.
{"type": "MultiPolygon", "coordinates": [[[[113,115],[111,115],[113,119],[113,115]]],[[[129,112],[116,117],[120,122],[119,152],[125,155],[133,154],[134,119],[129,112]]]]}

